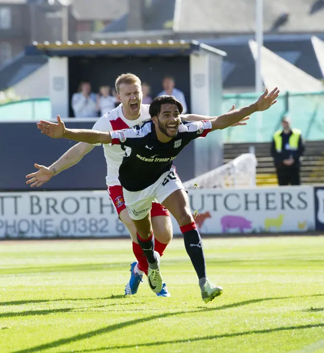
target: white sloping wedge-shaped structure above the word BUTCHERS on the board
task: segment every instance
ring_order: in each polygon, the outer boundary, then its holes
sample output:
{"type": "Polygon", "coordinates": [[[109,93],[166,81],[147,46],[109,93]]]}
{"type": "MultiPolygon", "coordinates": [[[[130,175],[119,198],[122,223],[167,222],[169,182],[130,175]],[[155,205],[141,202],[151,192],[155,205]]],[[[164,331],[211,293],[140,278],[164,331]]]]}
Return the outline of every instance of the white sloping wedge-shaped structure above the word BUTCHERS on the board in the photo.
{"type": "Polygon", "coordinates": [[[253,153],[244,153],[208,173],[183,183],[190,188],[253,188],[256,187],[257,159],[253,153]]]}

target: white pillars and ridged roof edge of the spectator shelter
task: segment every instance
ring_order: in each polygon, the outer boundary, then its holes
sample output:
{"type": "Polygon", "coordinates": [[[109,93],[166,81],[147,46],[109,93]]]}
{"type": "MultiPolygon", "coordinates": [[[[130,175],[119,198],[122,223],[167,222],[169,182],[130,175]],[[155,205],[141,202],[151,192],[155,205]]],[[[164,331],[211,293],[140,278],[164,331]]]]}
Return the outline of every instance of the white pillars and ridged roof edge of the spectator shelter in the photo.
{"type": "MultiPolygon", "coordinates": [[[[94,45],[94,42],[92,42],[94,45]]],[[[98,46],[89,50],[83,56],[98,55],[98,51],[110,48],[111,44],[102,43],[102,48],[98,46]]],[[[128,44],[124,42],[116,42],[114,44],[116,49],[124,50],[127,56],[128,44]]],[[[138,44],[136,44],[138,45],[138,44]]],[[[144,47],[146,50],[159,50],[159,47],[164,45],[170,50],[187,50],[189,60],[189,74],[190,74],[190,98],[191,111],[195,114],[216,116],[220,114],[222,103],[222,62],[226,53],[216,48],[207,46],[197,41],[186,43],[179,42],[143,42],[139,46],[139,50],[144,47]],[[155,48],[155,49],[154,49],[155,48]]],[[[41,46],[39,50],[47,50],[46,45],[41,46]]],[[[75,50],[87,50],[88,44],[73,44],[68,45],[66,52],[59,55],[61,44],[52,46],[47,50],[49,57],[49,85],[50,85],[50,99],[52,107],[52,117],[55,119],[57,114],[60,114],[63,119],[69,116],[69,56],[75,55],[75,50]],[[84,49],[84,48],[86,49],[84,49]],[[70,52],[70,55],[68,56],[70,52]]],[[[115,49],[114,48],[114,49],[115,49]]],[[[109,49],[110,50],[110,49],[109,49]]],[[[139,53],[141,53],[139,51],[139,53]]],[[[140,54],[141,55],[141,54],[140,54]]],[[[143,63],[144,65],[144,63],[143,63]]],[[[212,168],[217,168],[223,163],[223,143],[221,130],[214,133],[213,139],[199,139],[199,142],[194,143],[194,175],[200,175],[212,168]],[[213,153],[211,153],[213,151],[213,153]]]]}

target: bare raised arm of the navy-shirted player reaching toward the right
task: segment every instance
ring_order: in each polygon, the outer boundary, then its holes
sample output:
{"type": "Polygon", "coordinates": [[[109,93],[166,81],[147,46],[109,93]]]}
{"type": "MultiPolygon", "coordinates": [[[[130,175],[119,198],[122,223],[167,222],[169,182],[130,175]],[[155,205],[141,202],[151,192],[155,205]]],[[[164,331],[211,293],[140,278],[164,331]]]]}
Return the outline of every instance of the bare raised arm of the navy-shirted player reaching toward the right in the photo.
{"type": "Polygon", "coordinates": [[[212,123],[212,131],[226,129],[233,124],[240,122],[244,117],[255,113],[256,111],[263,111],[269,109],[273,104],[275,104],[276,98],[279,95],[279,90],[276,87],[270,93],[266,89],[263,95],[259,97],[259,99],[246,107],[231,110],[226,114],[215,117],[211,120],[212,123]]]}

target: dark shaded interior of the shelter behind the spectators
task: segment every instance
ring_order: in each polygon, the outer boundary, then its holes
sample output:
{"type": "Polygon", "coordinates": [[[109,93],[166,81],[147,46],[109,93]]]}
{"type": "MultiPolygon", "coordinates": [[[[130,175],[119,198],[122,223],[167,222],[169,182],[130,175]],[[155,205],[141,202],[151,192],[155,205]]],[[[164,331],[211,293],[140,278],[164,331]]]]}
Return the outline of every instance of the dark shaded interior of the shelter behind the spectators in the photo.
{"type": "MultiPolygon", "coordinates": [[[[154,98],[163,90],[164,76],[171,75],[176,80],[176,88],[186,98],[190,112],[190,72],[189,57],[72,57],[69,58],[69,102],[73,93],[77,92],[81,81],[89,81],[93,92],[97,93],[100,86],[113,87],[116,77],[121,73],[132,72],[151,87],[154,98]]],[[[73,111],[70,107],[70,116],[73,111]]]]}

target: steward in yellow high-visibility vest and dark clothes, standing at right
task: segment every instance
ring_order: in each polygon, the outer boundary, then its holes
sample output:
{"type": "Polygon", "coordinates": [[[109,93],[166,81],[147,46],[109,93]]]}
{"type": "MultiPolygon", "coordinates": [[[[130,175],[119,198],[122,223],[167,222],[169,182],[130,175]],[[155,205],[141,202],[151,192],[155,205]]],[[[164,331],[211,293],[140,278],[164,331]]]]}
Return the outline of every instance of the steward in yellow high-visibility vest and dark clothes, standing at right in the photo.
{"type": "Polygon", "coordinates": [[[304,153],[301,131],[291,128],[291,121],[285,115],[281,121],[282,130],[273,134],[271,156],[278,178],[278,184],[300,185],[300,159],[304,153]]]}

